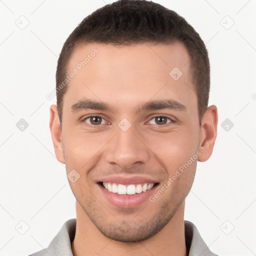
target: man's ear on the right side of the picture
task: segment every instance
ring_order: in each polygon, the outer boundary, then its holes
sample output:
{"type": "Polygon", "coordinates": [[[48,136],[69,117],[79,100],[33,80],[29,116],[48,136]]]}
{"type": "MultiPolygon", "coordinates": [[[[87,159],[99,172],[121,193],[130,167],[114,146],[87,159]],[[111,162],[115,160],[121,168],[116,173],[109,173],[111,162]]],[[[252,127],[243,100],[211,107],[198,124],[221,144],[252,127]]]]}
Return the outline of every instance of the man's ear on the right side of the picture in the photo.
{"type": "Polygon", "coordinates": [[[205,111],[200,129],[200,143],[198,150],[201,152],[198,161],[203,162],[209,159],[217,136],[218,114],[217,107],[211,105],[205,111]]]}

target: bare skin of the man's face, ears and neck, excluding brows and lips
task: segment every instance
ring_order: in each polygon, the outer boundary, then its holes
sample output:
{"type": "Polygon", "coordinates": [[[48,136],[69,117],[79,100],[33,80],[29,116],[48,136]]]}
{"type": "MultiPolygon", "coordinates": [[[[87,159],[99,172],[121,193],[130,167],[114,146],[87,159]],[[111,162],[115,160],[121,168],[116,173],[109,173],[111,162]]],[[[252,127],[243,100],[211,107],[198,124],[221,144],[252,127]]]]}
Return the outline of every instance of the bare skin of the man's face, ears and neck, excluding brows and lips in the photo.
{"type": "Polygon", "coordinates": [[[157,199],[133,208],[109,203],[97,181],[114,174],[138,174],[157,180],[160,188],[196,152],[197,160],[207,160],[216,137],[217,108],[207,108],[200,127],[189,55],[179,42],[81,44],[67,73],[95,48],[98,53],[68,82],[62,130],[56,105],[50,107],[56,157],[65,163],[67,173],[75,169],[80,175],[76,182],[69,181],[77,214],[73,254],[158,255],[161,251],[161,255],[186,255],[184,199],[196,160],[157,199]],[[174,67],[182,71],[178,80],[169,75],[174,67]],[[72,111],[72,105],[85,99],[105,102],[111,110],[72,111]],[[135,112],[153,100],[176,100],[186,109],[135,112]],[[90,115],[102,117],[101,124],[85,119],[90,115]],[[157,116],[166,116],[166,123],[157,125],[157,116]],[[131,124],[127,131],[118,126],[123,118],[131,124]]]}

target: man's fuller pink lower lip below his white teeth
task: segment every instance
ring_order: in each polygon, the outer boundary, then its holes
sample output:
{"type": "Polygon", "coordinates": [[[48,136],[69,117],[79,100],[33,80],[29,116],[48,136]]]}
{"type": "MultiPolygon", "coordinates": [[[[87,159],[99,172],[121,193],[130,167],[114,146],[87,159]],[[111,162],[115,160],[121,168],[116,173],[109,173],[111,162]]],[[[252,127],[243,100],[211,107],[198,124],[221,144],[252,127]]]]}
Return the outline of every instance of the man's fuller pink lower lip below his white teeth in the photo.
{"type": "Polygon", "coordinates": [[[100,190],[106,197],[106,199],[113,205],[120,207],[120,208],[134,208],[141,203],[145,202],[148,200],[149,196],[154,193],[154,190],[158,186],[158,184],[154,185],[151,189],[141,192],[141,193],[135,193],[135,194],[116,194],[109,192],[107,189],[105,189],[103,186],[98,184],[100,190]]]}

